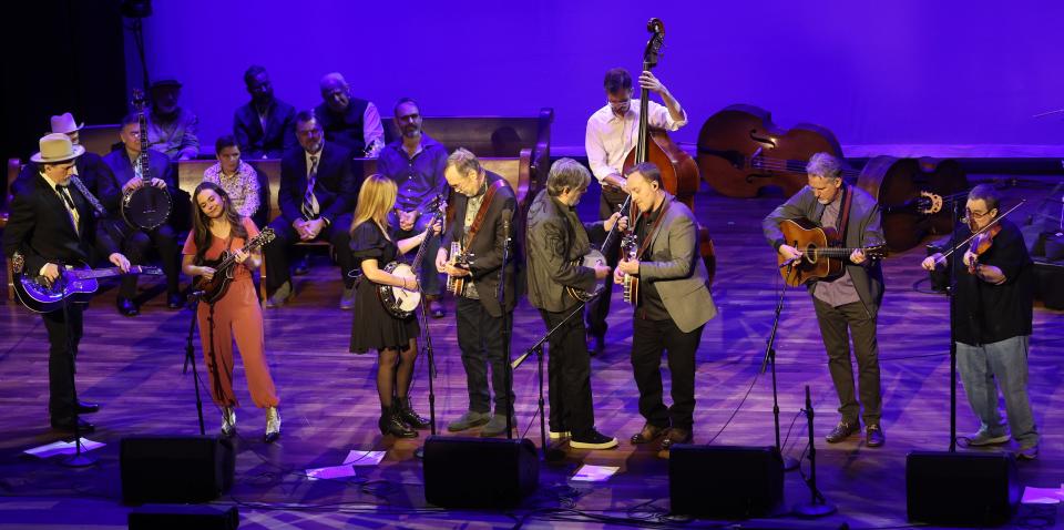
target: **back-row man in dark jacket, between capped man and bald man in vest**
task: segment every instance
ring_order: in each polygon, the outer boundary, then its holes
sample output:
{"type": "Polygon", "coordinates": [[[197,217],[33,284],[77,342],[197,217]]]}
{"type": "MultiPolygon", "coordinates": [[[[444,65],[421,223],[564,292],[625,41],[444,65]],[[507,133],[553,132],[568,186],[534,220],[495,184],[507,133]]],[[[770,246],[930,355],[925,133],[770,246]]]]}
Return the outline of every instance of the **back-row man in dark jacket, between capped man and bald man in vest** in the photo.
{"type": "Polygon", "coordinates": [[[296,109],[274,98],[274,85],[263,67],[248,68],[244,84],[252,101],[233,116],[233,135],[241,153],[248,160],[279,159],[297,145],[296,109]]]}

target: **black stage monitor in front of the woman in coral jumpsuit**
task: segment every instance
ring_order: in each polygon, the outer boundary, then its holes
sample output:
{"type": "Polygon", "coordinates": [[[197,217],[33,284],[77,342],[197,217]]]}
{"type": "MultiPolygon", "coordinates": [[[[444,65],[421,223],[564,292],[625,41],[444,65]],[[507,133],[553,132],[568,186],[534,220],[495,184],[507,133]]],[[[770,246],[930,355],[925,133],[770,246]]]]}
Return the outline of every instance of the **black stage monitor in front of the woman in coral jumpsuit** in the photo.
{"type": "Polygon", "coordinates": [[[120,447],[122,501],[206,502],[233,485],[233,444],[213,436],[137,436],[120,447]]]}

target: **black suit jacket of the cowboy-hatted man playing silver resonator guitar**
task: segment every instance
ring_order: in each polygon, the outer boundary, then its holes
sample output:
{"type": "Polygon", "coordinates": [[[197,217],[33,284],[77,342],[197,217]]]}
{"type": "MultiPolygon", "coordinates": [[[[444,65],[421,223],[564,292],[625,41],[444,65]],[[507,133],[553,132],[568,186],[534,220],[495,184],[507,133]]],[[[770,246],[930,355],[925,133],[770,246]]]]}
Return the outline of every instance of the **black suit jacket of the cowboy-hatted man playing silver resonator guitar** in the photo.
{"type": "Polygon", "coordinates": [[[75,187],[68,188],[78,210],[78,231],[63,200],[40,174],[22,183],[11,202],[11,214],[3,230],[3,253],[16,252],[25,257],[28,274],[37,273],[47,263],[92,264],[98,259],[95,245],[103,255],[117,252],[106,236],[96,236],[92,206],[75,187]]]}

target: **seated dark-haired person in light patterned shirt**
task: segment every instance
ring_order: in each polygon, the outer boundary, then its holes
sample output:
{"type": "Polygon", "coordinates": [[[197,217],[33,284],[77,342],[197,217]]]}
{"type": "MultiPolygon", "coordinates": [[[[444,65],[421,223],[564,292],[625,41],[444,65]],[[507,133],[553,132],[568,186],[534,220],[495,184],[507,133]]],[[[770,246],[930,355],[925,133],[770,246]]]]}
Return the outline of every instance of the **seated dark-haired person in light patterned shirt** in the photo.
{"type": "Polygon", "coordinates": [[[258,173],[241,160],[241,147],[233,136],[222,136],[214,143],[218,163],[203,172],[203,182],[217,184],[233,202],[233,208],[242,217],[249,217],[255,226],[265,226],[269,205],[259,200],[258,173]]]}

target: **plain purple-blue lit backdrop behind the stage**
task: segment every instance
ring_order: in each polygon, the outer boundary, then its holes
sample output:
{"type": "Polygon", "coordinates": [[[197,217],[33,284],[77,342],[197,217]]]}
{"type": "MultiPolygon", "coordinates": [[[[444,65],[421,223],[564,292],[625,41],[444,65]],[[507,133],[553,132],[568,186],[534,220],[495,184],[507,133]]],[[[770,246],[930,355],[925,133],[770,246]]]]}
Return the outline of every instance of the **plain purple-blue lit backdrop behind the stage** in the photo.
{"type": "MultiPolygon", "coordinates": [[[[829,128],[856,147],[850,155],[883,144],[979,155],[1064,143],[1061,115],[1032,118],[1064,106],[1064,2],[644,3],[156,0],[145,37],[153,75],[184,82],[206,150],[231,130],[247,100],[244,69],[258,63],[297,108],[319,102],[330,71],[385,116],[400,96],[426,115],[552,106],[556,152],[582,154],[603,73],[640,68],[651,17],[666,29],[657,73],[690,116],[681,142],[696,142],[720,108],[749,103],[785,128],[829,128]]],[[[126,54],[137,82],[131,45],[126,54]]]]}

